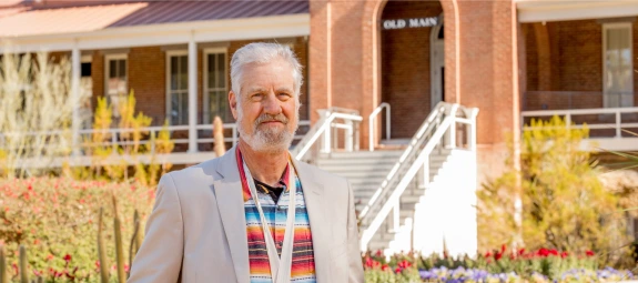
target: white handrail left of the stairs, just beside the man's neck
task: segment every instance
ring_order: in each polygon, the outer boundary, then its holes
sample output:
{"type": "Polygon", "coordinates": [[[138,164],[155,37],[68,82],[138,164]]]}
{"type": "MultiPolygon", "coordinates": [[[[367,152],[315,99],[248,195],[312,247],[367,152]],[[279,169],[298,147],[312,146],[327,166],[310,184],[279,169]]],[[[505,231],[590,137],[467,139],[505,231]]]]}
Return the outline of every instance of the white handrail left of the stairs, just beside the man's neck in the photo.
{"type": "Polygon", "coordinates": [[[330,151],[330,149],[332,148],[330,129],[345,128],[346,130],[350,131],[348,137],[346,137],[348,139],[348,142],[346,143],[350,144],[348,145],[350,150],[352,150],[353,144],[357,143],[353,141],[358,135],[358,133],[354,131],[352,122],[363,121],[363,118],[358,115],[358,111],[343,108],[331,108],[326,110],[320,110],[320,113],[322,113],[320,120],[315,123],[314,127],[311,128],[311,130],[301,139],[297,145],[291,151],[291,154],[295,159],[301,160],[322,134],[325,137],[324,146],[330,151]],[[334,121],[337,119],[342,119],[347,123],[335,123],[334,121]]]}

